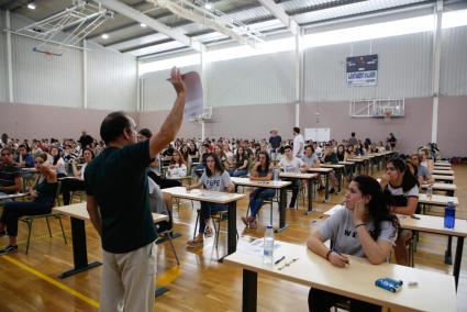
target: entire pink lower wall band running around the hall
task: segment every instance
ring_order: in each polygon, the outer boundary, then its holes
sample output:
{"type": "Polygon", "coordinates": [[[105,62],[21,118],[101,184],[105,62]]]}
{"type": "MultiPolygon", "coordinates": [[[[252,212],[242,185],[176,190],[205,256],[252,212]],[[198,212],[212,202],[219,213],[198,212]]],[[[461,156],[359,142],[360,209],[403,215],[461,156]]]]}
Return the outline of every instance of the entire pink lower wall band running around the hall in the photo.
{"type": "MultiPolygon", "coordinates": [[[[99,126],[109,113],[107,110],[82,110],[60,107],[10,104],[0,102],[0,133],[12,137],[75,137],[81,130],[99,138],[99,126]]],[[[131,112],[140,127],[158,131],[168,111],[131,112]]],[[[440,99],[438,142],[443,156],[466,156],[467,135],[464,123],[467,118],[467,97],[440,99]]],[[[432,99],[407,99],[405,118],[352,119],[348,102],[305,103],[300,109],[301,127],[331,127],[331,136],[347,138],[352,131],[358,138],[385,140],[390,132],[398,138],[398,149],[411,153],[431,140],[432,99]],[[320,112],[316,124],[315,113],[320,112]]],[[[294,125],[294,104],[242,105],[216,108],[213,119],[205,124],[208,137],[263,138],[269,130],[279,129],[283,138],[291,138],[294,125]]],[[[179,137],[200,137],[201,125],[185,121],[179,137]]]]}

